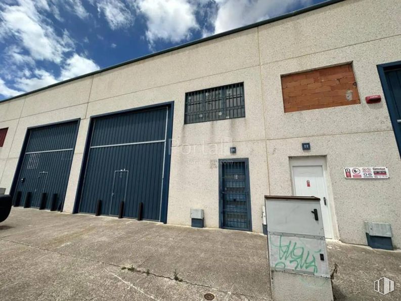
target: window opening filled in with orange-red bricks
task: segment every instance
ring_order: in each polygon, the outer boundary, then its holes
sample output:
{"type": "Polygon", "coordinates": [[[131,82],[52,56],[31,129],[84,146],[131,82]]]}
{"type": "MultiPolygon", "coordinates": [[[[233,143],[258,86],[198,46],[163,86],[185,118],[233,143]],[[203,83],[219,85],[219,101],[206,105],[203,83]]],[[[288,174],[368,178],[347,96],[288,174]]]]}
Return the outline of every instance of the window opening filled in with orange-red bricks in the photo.
{"type": "Polygon", "coordinates": [[[340,65],[281,77],[284,112],[360,103],[352,65],[340,65]]]}

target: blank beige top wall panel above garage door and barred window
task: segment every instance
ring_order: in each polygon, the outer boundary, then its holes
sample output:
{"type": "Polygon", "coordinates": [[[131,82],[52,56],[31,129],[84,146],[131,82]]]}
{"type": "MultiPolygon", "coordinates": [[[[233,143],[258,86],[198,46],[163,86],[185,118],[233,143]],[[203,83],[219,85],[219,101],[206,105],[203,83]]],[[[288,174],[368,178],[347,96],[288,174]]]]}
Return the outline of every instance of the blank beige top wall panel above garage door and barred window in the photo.
{"type": "Polygon", "coordinates": [[[253,28],[98,74],[91,101],[258,64],[257,28],[253,28]]]}

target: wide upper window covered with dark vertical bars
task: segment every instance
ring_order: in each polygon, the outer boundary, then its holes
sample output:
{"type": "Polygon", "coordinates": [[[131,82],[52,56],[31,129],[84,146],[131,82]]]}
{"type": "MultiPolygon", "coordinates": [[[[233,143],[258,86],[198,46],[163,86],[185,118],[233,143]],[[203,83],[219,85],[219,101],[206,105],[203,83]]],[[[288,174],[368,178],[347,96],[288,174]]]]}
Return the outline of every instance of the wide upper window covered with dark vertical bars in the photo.
{"type": "Polygon", "coordinates": [[[244,83],[185,94],[185,123],[245,117],[244,83]]]}

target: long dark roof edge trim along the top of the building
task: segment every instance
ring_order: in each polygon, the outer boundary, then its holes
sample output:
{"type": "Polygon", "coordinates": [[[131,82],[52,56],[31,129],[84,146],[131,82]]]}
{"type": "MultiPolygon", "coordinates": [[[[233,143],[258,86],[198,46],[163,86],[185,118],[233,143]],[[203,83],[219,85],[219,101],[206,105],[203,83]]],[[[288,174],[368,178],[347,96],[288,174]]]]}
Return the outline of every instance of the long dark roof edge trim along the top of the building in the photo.
{"type": "Polygon", "coordinates": [[[170,48],[158,51],[158,52],[147,54],[147,55],[144,55],[142,57],[131,59],[131,60],[128,60],[128,61],[125,61],[125,62],[122,62],[122,63],[118,63],[116,65],[112,65],[112,66],[109,66],[109,67],[106,67],[106,68],[103,68],[103,69],[99,69],[99,70],[90,72],[90,73],[82,74],[82,75],[79,75],[79,76],[76,76],[76,77],[73,77],[73,78],[69,78],[69,79],[66,79],[66,80],[63,80],[63,81],[59,81],[59,82],[47,85],[46,87],[42,87],[42,88],[39,88],[39,89],[36,89],[36,90],[25,92],[23,94],[12,96],[12,97],[6,98],[4,100],[0,100],[0,103],[6,102],[6,101],[10,101],[10,100],[13,100],[13,99],[17,99],[17,98],[20,98],[20,97],[24,97],[24,96],[27,96],[27,95],[30,95],[30,94],[34,94],[34,93],[37,93],[37,92],[40,92],[40,91],[43,91],[43,90],[46,90],[46,89],[49,89],[49,88],[57,87],[58,85],[61,85],[61,84],[64,84],[64,83],[67,83],[67,82],[70,82],[70,81],[73,81],[73,80],[76,80],[76,79],[92,76],[92,75],[99,74],[99,73],[102,73],[102,72],[105,72],[105,71],[108,71],[108,70],[112,70],[112,69],[115,69],[115,68],[118,68],[118,67],[122,67],[122,66],[128,65],[128,64],[131,64],[131,63],[136,63],[136,62],[139,62],[139,61],[142,61],[142,60],[146,60],[146,59],[149,59],[149,58],[153,58],[155,56],[159,56],[159,55],[162,55],[162,54],[165,54],[165,53],[173,52],[175,50],[179,50],[179,49],[183,49],[183,48],[190,47],[190,46],[193,46],[193,45],[197,45],[197,44],[200,44],[200,43],[205,42],[205,41],[209,41],[209,40],[212,40],[212,39],[216,39],[216,38],[219,38],[219,37],[223,37],[223,36],[226,36],[226,35],[237,33],[237,32],[240,32],[240,31],[247,30],[247,29],[255,28],[255,27],[258,27],[258,26],[265,25],[265,24],[277,22],[277,21],[280,21],[280,20],[288,19],[288,18],[291,18],[291,17],[294,17],[294,16],[298,16],[298,15],[301,15],[301,14],[304,14],[304,13],[307,13],[307,12],[310,12],[310,11],[314,11],[314,10],[317,10],[317,9],[320,9],[320,8],[323,8],[323,7],[326,7],[326,6],[330,6],[330,5],[339,3],[339,2],[343,2],[343,1],[345,1],[345,0],[326,0],[324,2],[315,4],[315,5],[300,9],[300,10],[296,10],[296,11],[293,11],[293,12],[278,16],[278,17],[274,17],[274,18],[271,18],[271,19],[259,21],[259,22],[256,22],[256,23],[252,23],[252,24],[249,24],[249,25],[245,25],[245,26],[242,26],[242,27],[238,27],[238,28],[235,28],[235,29],[231,29],[231,30],[228,30],[228,31],[217,33],[217,34],[214,34],[214,35],[211,35],[211,36],[207,36],[207,37],[204,37],[204,38],[193,40],[193,41],[181,44],[181,45],[177,45],[177,46],[170,47],[170,48]]]}

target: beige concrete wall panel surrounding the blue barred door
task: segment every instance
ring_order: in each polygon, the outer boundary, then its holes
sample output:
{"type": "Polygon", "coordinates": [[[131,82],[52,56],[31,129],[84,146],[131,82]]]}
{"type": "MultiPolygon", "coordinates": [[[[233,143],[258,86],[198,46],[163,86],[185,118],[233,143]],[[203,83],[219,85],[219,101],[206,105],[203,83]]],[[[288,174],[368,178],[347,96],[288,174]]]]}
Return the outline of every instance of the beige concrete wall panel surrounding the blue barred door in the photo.
{"type": "Polygon", "coordinates": [[[262,232],[264,195],[269,194],[266,148],[263,141],[237,142],[230,154],[230,137],[221,143],[172,148],[167,222],[190,225],[191,208],[201,208],[205,227],[218,228],[218,159],[249,158],[252,230],[262,232]],[[228,143],[224,143],[228,141],[228,143]]]}

